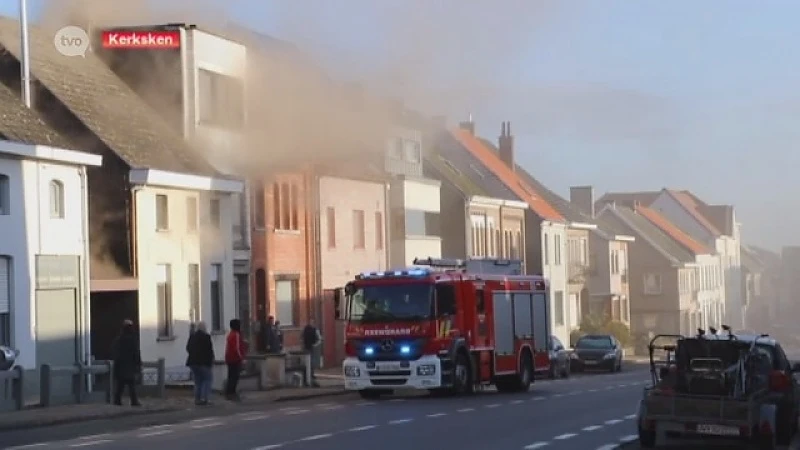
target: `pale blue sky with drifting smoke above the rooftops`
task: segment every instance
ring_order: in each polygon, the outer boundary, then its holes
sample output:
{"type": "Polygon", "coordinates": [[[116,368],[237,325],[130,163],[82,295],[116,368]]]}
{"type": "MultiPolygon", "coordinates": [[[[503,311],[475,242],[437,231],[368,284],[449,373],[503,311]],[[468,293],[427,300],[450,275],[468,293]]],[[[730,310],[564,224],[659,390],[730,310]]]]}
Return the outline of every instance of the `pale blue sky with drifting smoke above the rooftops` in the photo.
{"type": "Polygon", "coordinates": [[[201,3],[489,139],[511,121],[517,161],[564,196],[687,189],[735,205],[749,244],[800,245],[800,2],[201,3]]]}

